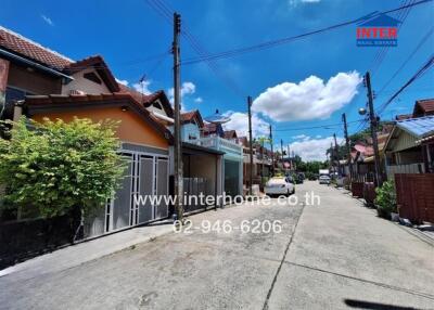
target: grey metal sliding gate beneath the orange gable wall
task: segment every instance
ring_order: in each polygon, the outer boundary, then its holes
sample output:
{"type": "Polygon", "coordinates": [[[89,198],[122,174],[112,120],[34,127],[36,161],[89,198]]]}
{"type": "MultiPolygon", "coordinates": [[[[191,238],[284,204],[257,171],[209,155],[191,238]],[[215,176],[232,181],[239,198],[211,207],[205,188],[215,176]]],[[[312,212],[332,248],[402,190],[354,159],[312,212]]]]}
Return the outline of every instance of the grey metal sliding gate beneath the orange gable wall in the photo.
{"type": "Polygon", "coordinates": [[[168,156],[131,151],[122,151],[122,156],[127,168],[120,186],[108,199],[105,215],[101,212],[88,223],[87,237],[168,216],[168,205],[164,199],[168,195],[168,156]],[[161,201],[155,201],[158,197],[161,201]]]}

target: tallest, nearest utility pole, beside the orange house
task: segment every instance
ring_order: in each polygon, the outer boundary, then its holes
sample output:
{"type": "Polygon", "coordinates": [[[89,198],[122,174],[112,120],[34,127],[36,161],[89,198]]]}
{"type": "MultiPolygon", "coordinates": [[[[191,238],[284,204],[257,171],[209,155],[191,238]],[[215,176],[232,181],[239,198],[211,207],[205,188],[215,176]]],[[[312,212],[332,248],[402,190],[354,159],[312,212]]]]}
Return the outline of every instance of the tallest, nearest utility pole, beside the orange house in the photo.
{"type": "Polygon", "coordinates": [[[179,35],[181,33],[181,15],[174,13],[174,105],[175,105],[175,210],[178,220],[182,221],[183,217],[183,177],[182,177],[182,142],[181,142],[181,124],[180,124],[180,49],[179,35]]]}

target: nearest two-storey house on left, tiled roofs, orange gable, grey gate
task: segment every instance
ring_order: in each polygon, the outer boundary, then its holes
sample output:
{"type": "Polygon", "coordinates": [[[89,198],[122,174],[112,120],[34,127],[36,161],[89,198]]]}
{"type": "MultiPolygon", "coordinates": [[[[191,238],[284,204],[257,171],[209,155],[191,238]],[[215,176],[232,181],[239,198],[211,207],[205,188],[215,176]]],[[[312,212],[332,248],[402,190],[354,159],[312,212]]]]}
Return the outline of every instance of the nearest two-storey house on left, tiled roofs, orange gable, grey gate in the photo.
{"type": "Polygon", "coordinates": [[[64,121],[78,117],[120,122],[116,135],[119,154],[127,163],[122,186],[99,215],[86,218],[85,236],[169,215],[165,202],[138,205],[133,201],[138,194],[168,194],[173,137],[156,117],[173,116],[164,92],[138,101],[117,83],[102,56],[73,61],[5,28],[0,28],[0,64],[2,119],[26,115],[37,121],[43,117],[64,121]]]}

